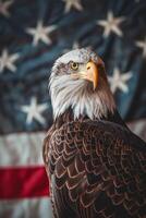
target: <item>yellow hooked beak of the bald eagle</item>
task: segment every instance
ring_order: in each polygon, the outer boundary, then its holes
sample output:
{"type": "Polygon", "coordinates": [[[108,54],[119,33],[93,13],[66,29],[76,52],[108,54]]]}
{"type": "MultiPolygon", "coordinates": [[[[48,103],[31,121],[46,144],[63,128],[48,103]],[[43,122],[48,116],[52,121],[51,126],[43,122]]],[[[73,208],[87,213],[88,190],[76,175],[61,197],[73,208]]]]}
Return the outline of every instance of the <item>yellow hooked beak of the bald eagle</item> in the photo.
{"type": "Polygon", "coordinates": [[[86,64],[86,70],[84,72],[83,71],[78,72],[78,76],[81,78],[85,78],[87,81],[93,82],[94,90],[96,89],[98,85],[98,68],[96,63],[94,63],[93,61],[89,61],[86,64]]]}

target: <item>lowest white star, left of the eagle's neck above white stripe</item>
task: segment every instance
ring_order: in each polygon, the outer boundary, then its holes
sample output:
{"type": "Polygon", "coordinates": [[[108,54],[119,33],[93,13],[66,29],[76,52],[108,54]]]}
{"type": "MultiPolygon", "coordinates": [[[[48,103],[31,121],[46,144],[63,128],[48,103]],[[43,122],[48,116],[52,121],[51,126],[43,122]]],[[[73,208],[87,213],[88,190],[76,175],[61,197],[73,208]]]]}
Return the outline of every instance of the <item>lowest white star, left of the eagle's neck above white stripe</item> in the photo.
{"type": "Polygon", "coordinates": [[[47,109],[47,104],[37,104],[36,97],[33,97],[31,99],[31,105],[22,106],[21,110],[25,113],[27,113],[26,123],[31,124],[33,119],[37,120],[41,124],[45,123],[45,119],[41,116],[41,112],[44,112],[47,109]]]}

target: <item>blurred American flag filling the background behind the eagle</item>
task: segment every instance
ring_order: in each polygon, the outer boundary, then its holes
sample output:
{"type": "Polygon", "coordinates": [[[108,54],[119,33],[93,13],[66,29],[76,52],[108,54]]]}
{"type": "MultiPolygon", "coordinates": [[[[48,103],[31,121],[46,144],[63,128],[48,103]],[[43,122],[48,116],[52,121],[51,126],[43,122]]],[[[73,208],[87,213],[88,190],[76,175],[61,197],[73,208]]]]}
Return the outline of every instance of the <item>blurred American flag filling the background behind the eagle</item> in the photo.
{"type": "Polygon", "coordinates": [[[0,218],[51,218],[48,80],[81,47],[104,59],[122,118],[146,141],[145,0],[0,0],[0,218]]]}

